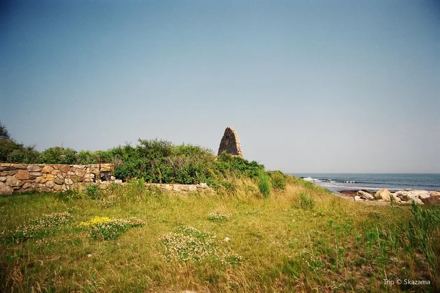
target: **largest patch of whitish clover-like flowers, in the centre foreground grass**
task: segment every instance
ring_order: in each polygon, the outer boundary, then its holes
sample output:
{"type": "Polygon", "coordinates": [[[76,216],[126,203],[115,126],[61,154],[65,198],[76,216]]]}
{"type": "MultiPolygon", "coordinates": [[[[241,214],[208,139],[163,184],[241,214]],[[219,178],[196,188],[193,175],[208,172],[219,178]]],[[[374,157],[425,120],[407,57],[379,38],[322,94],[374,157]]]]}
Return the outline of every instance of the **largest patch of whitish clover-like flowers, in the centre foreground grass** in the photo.
{"type": "Polygon", "coordinates": [[[220,251],[217,248],[216,235],[191,226],[178,227],[174,232],[163,235],[160,240],[165,245],[164,256],[167,261],[200,261],[208,257],[230,265],[242,261],[238,254],[220,251]]]}

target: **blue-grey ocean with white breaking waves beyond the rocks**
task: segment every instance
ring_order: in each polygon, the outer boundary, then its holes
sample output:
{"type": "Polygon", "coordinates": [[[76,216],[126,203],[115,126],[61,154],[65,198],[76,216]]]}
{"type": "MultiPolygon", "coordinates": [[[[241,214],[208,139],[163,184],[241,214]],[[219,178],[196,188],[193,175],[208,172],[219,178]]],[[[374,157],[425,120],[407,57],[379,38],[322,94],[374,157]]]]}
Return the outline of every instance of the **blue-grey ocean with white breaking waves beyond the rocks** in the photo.
{"type": "Polygon", "coordinates": [[[440,174],[342,174],[342,173],[299,173],[304,180],[327,188],[334,193],[340,190],[379,190],[391,192],[411,188],[414,190],[440,190],[440,174]]]}

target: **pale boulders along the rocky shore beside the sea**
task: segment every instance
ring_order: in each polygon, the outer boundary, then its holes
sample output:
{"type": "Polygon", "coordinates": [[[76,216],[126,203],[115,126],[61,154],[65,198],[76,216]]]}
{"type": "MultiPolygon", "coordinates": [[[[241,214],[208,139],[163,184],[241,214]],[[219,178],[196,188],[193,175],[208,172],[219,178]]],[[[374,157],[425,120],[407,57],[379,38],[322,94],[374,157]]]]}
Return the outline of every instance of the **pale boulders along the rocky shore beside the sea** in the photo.
{"type": "Polygon", "coordinates": [[[429,192],[427,190],[340,190],[342,196],[352,197],[354,201],[388,201],[393,200],[398,204],[410,204],[413,200],[418,205],[440,204],[440,190],[429,192]]]}

